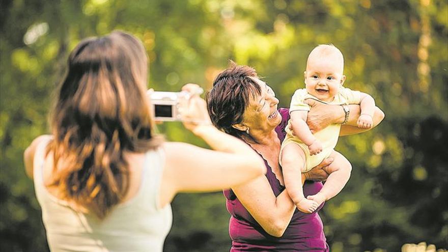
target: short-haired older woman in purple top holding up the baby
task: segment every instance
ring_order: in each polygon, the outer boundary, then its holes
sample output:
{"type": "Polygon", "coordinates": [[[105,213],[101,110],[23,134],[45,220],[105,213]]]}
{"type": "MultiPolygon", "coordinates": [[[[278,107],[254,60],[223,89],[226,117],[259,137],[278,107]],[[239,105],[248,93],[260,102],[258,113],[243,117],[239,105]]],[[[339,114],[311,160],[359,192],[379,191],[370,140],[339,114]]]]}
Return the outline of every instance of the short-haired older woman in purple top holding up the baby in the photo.
{"type": "MultiPolygon", "coordinates": [[[[285,137],[289,119],[288,109],[277,109],[278,99],[266,82],[257,77],[253,68],[232,66],[216,76],[213,89],[207,95],[209,114],[213,124],[234,135],[256,150],[264,159],[266,176],[224,192],[227,209],[231,213],[229,232],[231,251],[328,251],[322,220],[318,210],[311,214],[297,211],[285,190],[278,153],[285,137]]],[[[359,106],[350,105],[348,113],[339,105],[310,103],[310,128],[318,131],[329,123],[344,122],[356,125],[359,106]],[[318,116],[319,115],[319,116],[318,116]]],[[[383,118],[377,109],[376,126],[383,118]]],[[[353,134],[365,129],[344,125],[341,134],[353,134]]],[[[324,160],[318,167],[301,174],[302,181],[324,180],[322,170],[332,160],[324,160]]],[[[318,192],[322,183],[306,181],[305,197],[318,192]]]]}

